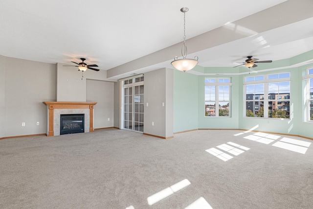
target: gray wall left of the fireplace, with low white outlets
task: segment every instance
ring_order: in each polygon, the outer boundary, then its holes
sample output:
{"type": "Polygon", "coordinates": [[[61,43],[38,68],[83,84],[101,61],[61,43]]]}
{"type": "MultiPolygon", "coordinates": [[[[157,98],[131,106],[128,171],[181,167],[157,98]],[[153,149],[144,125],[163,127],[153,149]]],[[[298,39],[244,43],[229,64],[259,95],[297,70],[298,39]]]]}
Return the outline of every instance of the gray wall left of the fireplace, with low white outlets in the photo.
{"type": "Polygon", "coordinates": [[[0,138],[44,134],[43,101],[56,99],[56,65],[3,56],[0,61],[0,138]]]}

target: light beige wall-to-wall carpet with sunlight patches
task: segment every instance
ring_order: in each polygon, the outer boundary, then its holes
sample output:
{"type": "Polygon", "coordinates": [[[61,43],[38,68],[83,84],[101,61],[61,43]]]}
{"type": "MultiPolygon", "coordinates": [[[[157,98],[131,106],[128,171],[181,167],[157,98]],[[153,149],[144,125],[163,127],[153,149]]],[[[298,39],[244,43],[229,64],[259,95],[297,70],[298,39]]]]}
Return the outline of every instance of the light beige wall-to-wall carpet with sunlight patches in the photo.
{"type": "Polygon", "coordinates": [[[183,209],[202,197],[213,209],[311,209],[312,142],[240,130],[2,139],[0,208],[183,209]],[[190,185],[149,206],[148,197],[185,179],[190,185]]]}

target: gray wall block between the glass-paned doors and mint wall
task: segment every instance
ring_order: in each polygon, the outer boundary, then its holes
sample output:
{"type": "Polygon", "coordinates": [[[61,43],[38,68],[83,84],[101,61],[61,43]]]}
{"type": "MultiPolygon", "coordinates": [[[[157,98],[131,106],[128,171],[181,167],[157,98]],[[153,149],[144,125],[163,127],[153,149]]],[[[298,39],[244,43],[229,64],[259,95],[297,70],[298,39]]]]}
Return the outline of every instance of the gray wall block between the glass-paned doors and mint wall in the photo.
{"type": "Polygon", "coordinates": [[[144,133],[164,138],[172,137],[173,70],[160,69],[146,72],[144,79],[144,133]]]}

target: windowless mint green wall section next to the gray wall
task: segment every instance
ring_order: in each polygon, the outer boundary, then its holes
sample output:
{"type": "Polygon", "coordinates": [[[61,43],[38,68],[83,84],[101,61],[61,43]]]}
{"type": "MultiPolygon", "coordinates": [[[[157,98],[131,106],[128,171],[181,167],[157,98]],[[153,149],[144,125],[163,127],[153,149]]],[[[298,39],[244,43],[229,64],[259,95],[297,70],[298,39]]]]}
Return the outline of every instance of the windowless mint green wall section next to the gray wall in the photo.
{"type": "Polygon", "coordinates": [[[198,76],[174,70],[174,133],[198,129],[198,76]]]}

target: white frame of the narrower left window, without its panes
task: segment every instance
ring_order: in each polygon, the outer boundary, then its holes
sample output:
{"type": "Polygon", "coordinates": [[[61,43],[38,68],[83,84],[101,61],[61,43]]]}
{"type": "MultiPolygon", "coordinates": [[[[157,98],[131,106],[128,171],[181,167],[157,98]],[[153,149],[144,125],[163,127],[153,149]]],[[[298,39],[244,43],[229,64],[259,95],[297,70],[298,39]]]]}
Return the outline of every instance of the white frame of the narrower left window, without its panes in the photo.
{"type": "Polygon", "coordinates": [[[204,78],[204,117],[231,117],[231,77],[205,77],[204,78]],[[215,79],[215,82],[206,82],[206,80],[212,80],[215,79]],[[229,82],[220,82],[220,79],[228,79],[229,82]],[[214,86],[215,87],[215,100],[206,100],[205,99],[205,87],[206,86],[214,86]],[[229,97],[228,100],[221,100],[219,99],[219,87],[221,86],[228,86],[229,87],[229,97]],[[205,107],[206,107],[206,102],[215,102],[215,116],[205,116],[205,107]],[[220,107],[219,104],[220,102],[228,102],[228,116],[219,116],[220,112],[220,107]]]}

